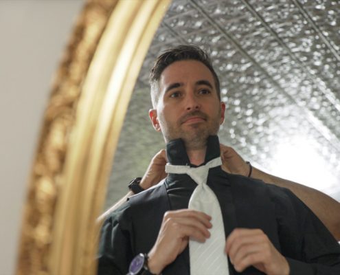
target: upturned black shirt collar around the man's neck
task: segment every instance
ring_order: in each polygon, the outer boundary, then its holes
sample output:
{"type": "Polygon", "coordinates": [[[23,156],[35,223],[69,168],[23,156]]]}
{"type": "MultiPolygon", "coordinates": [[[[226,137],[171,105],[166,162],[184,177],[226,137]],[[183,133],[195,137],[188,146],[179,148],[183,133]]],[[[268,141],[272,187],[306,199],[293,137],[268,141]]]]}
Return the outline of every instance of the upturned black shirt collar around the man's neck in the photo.
{"type": "MultiPolygon", "coordinates": [[[[168,162],[172,165],[190,165],[190,159],[188,157],[187,151],[185,150],[184,141],[179,138],[177,140],[171,140],[166,144],[166,155],[168,157],[168,162]]],[[[207,151],[205,153],[206,164],[210,160],[220,156],[220,142],[217,135],[209,135],[207,138],[207,151]]]]}

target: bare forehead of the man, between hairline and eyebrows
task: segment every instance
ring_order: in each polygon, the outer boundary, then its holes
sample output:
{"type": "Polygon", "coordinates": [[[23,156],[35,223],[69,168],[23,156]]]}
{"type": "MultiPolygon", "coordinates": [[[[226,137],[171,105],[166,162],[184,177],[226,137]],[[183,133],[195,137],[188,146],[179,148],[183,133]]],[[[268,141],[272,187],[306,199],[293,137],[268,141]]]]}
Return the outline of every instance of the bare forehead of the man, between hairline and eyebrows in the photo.
{"type": "MultiPolygon", "coordinates": [[[[176,61],[161,73],[159,85],[161,90],[173,83],[191,83],[198,80],[208,80],[214,85],[214,76],[209,68],[200,61],[176,61]]],[[[215,85],[214,85],[215,86],[215,85]]]]}

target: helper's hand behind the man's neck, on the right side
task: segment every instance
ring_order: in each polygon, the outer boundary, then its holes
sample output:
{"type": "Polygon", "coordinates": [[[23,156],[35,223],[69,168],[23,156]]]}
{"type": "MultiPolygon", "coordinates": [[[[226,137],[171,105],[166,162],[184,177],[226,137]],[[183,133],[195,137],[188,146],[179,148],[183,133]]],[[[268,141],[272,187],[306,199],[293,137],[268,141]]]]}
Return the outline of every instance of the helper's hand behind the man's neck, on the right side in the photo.
{"type": "Polygon", "coordinates": [[[222,169],[227,173],[246,176],[249,175],[249,164],[231,147],[220,144],[222,169]]]}

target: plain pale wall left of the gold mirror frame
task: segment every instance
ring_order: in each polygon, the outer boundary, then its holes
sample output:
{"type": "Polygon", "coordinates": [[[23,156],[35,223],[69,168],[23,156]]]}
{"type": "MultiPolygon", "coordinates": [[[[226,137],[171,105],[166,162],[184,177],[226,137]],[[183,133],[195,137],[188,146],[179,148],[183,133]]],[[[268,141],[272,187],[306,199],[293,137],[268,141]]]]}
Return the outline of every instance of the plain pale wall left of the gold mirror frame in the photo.
{"type": "Polygon", "coordinates": [[[82,0],[0,1],[0,274],[14,274],[21,214],[52,77],[82,0]]]}

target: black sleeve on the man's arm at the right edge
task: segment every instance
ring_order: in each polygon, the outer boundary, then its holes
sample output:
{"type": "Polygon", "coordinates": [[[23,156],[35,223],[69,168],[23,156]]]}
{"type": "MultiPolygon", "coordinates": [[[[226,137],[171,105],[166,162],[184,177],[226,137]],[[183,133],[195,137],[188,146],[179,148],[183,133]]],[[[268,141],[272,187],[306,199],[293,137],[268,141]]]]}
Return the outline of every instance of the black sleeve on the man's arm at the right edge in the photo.
{"type": "Polygon", "coordinates": [[[293,192],[273,191],[282,254],[291,274],[339,275],[340,245],[293,192]]]}

